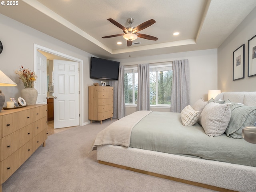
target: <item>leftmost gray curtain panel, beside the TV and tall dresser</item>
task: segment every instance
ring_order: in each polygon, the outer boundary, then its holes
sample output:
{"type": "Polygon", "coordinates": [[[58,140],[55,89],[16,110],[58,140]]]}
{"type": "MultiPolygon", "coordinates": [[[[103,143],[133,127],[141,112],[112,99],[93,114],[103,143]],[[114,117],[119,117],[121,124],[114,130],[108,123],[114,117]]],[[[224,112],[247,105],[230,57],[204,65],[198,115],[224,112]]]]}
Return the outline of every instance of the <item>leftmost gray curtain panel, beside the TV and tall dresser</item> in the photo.
{"type": "Polygon", "coordinates": [[[119,66],[117,81],[110,81],[110,86],[114,88],[114,109],[113,118],[120,119],[125,116],[124,106],[124,66],[119,66]]]}

